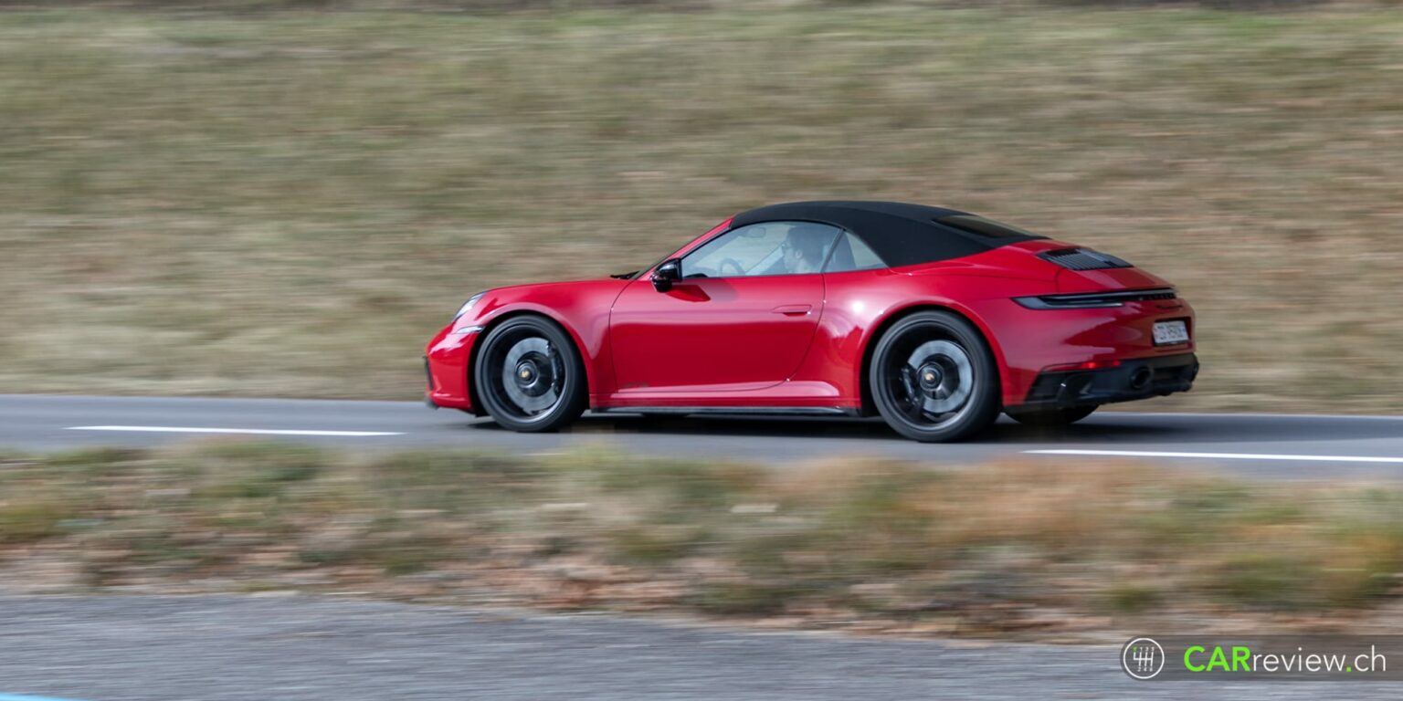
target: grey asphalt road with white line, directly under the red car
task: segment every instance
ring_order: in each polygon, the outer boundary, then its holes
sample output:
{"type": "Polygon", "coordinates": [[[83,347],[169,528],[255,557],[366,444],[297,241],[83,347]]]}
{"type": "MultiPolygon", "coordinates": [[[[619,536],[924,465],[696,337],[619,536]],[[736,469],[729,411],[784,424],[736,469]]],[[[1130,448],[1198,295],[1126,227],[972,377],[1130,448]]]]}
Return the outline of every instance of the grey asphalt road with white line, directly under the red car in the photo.
{"type": "MultiPolygon", "coordinates": [[[[375,450],[405,446],[549,453],[606,444],[666,456],[786,463],[840,454],[976,463],[1045,451],[1100,453],[1270,478],[1403,477],[1403,416],[1099,412],[1038,430],[1000,421],[975,440],[922,444],[881,421],[586,415],[571,430],[512,433],[488,419],[418,402],[0,395],[0,447],[154,446],[254,435],[375,450]],[[227,433],[226,433],[227,432],[227,433]]],[[[1120,456],[1113,456],[1120,457],[1120,456]]]]}

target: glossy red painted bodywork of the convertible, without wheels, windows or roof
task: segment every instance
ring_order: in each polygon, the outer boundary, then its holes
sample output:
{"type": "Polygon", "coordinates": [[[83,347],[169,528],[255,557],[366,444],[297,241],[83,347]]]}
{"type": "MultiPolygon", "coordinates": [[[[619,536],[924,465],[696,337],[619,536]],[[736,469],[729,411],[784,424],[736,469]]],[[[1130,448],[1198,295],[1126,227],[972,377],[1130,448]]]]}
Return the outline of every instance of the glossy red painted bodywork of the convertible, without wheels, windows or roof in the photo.
{"type": "MultiPolygon", "coordinates": [[[[730,220],[678,250],[685,255],[730,220]]],[[[1107,308],[1028,308],[1013,297],[1170,287],[1138,268],[1073,271],[1037,254],[1069,248],[1030,240],[986,252],[839,273],[521,285],[490,290],[428,346],[428,401],[477,412],[470,388],[477,338],[513,314],[564,327],[585,365],[592,408],[826,408],[870,412],[864,360],[885,325],[916,308],[946,308],[985,336],[1005,407],[1026,401],[1040,373],[1097,360],[1194,352],[1156,346],[1152,328],[1187,320],[1181,299],[1107,308]]]]}

